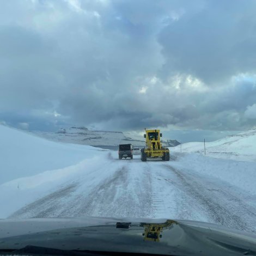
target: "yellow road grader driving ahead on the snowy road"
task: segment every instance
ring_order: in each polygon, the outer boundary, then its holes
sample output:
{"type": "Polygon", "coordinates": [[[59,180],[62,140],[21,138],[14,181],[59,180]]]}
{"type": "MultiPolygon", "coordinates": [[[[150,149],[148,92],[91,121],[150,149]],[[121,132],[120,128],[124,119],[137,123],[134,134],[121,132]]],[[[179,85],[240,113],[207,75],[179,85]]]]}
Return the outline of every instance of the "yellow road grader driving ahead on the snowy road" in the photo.
{"type": "Polygon", "coordinates": [[[147,161],[147,158],[161,157],[163,161],[170,160],[170,153],[168,148],[163,148],[160,141],[162,133],[160,130],[146,130],[144,138],[146,139],[146,147],[141,149],[141,160],[147,161]]]}

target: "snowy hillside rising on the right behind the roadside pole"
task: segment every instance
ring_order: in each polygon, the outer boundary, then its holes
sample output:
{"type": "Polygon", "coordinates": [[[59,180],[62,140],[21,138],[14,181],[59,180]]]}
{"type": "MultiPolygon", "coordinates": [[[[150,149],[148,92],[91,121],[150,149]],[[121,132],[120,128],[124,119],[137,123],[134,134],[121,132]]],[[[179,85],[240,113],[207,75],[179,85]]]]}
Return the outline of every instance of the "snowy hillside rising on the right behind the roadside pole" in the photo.
{"type": "MultiPolygon", "coordinates": [[[[218,139],[214,142],[206,142],[206,155],[222,159],[234,159],[242,161],[256,161],[256,130],[249,130],[218,139]]],[[[180,145],[170,149],[180,152],[180,145]]],[[[204,154],[204,142],[190,142],[182,144],[182,152],[204,154]]]]}

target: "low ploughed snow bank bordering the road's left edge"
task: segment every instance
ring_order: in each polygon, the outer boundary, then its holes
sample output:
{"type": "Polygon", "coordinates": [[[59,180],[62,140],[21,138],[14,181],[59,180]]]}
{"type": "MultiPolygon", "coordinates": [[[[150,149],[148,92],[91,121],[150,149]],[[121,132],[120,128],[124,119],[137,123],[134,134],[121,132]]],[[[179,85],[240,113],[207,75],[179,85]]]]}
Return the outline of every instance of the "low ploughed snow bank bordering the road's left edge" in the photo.
{"type": "MultiPolygon", "coordinates": [[[[6,218],[23,206],[67,185],[82,187],[83,193],[88,193],[116,171],[111,161],[108,153],[102,153],[101,156],[94,156],[74,166],[42,172],[0,185],[0,194],[4,195],[0,197],[0,205],[5,206],[1,208],[0,218],[6,218]]],[[[121,161],[117,161],[116,165],[120,163],[121,161]]]]}

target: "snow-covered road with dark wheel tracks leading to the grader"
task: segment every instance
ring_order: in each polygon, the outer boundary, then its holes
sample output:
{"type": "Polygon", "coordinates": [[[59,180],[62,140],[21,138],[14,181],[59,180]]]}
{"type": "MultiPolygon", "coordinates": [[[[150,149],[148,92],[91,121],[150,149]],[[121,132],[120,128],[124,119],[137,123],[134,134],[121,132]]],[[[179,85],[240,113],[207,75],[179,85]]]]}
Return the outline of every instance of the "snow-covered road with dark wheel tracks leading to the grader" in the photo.
{"type": "MultiPolygon", "coordinates": [[[[169,162],[118,160],[117,153],[11,214],[23,217],[150,217],[197,220],[256,231],[256,196],[169,162]]],[[[216,160],[217,161],[217,160],[216,160]]]]}

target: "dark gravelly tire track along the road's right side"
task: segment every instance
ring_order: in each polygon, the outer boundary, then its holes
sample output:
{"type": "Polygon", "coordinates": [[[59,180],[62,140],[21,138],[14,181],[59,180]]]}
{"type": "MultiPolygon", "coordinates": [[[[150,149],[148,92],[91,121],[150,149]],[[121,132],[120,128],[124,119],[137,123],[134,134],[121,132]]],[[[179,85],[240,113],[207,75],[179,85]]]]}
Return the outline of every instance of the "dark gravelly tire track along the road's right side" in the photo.
{"type": "MultiPolygon", "coordinates": [[[[205,182],[206,179],[200,180],[192,175],[186,175],[172,166],[166,165],[166,168],[178,179],[169,182],[196,199],[211,221],[231,228],[255,232],[256,209],[236,197],[235,191],[230,193],[227,188],[225,190],[223,184],[220,186],[214,182],[205,182]]],[[[187,207],[190,207],[190,202],[187,202],[187,207]]]]}

